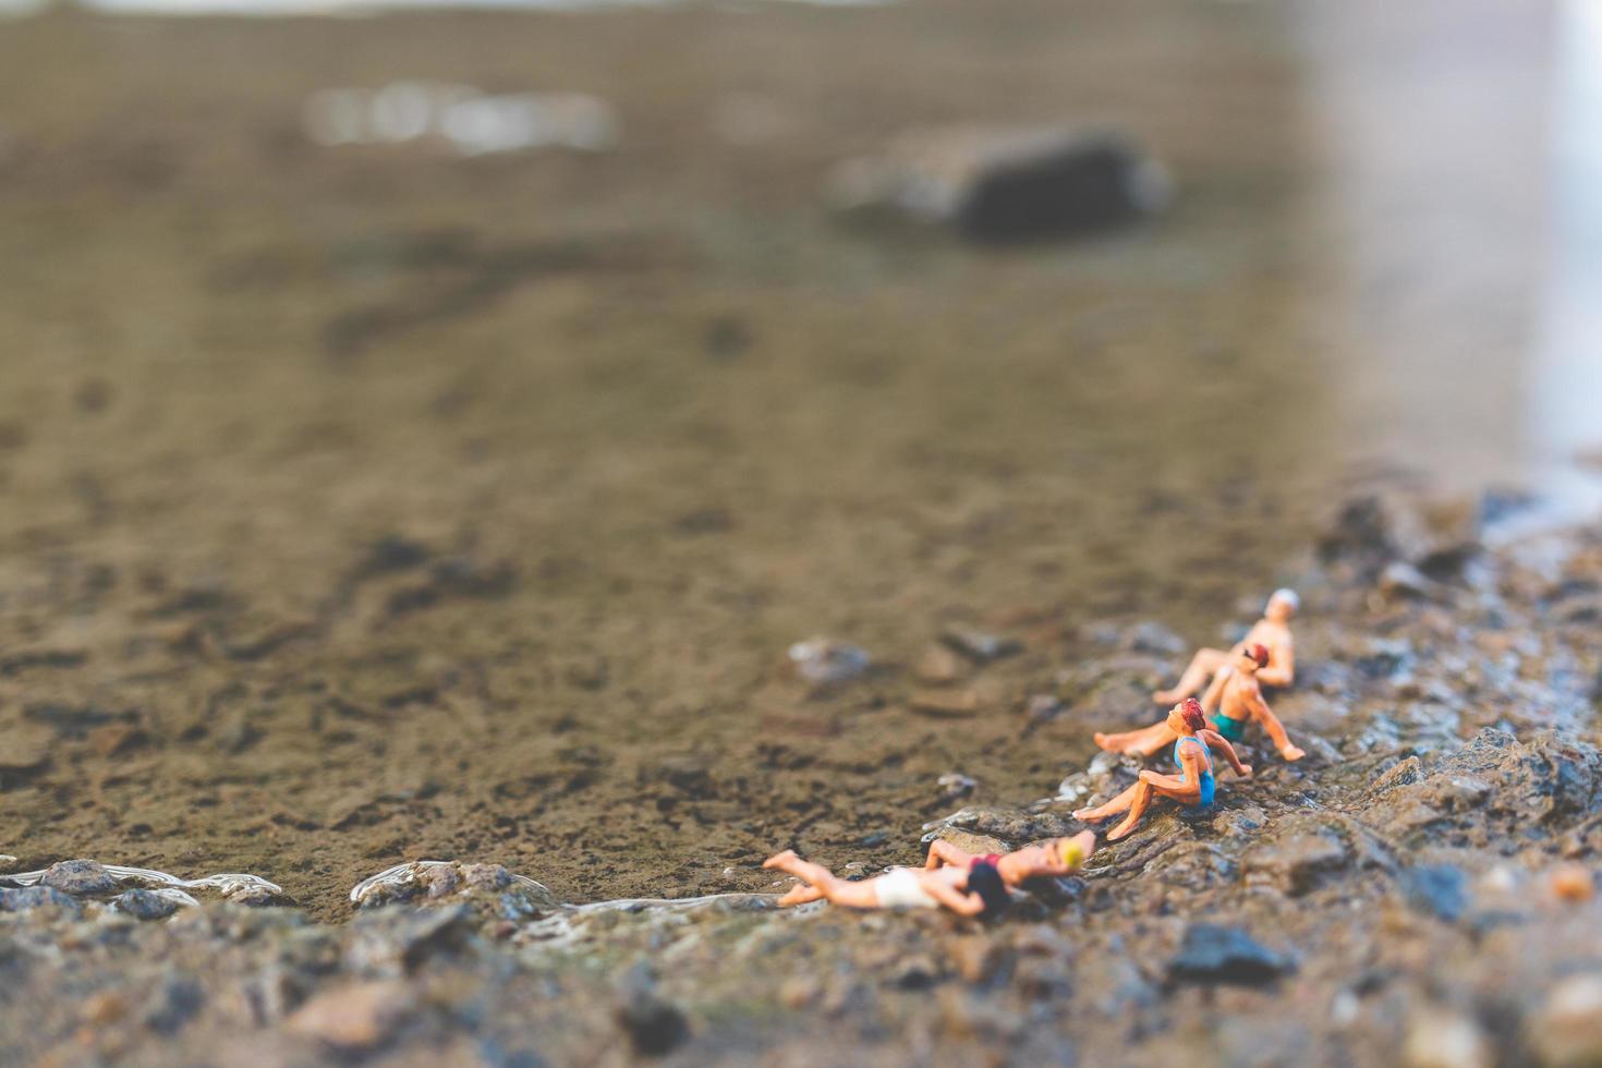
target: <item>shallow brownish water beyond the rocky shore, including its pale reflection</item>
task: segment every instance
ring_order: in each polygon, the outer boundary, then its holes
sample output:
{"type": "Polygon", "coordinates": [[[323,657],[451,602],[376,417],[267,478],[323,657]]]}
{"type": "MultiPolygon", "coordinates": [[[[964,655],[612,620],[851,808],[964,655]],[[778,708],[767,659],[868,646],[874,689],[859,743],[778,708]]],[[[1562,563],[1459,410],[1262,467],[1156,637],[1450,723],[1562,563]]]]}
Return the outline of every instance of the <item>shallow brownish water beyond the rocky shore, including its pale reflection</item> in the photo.
{"type": "Polygon", "coordinates": [[[751,890],[908,860],[950,772],[1048,796],[1085,745],[1019,709],[1080,623],[1216,640],[1376,472],[1594,490],[1594,11],[8,24],[0,850],[343,914],[421,855],[751,890]],[[620,147],[304,135],[407,78],[620,147]],[[1109,115],[1177,178],[1149,226],[819,208],[905,126],[1109,115]],[[952,620],[1025,644],[964,721],[907,701],[952,620]],[[807,695],[819,632],[879,674],[807,695]]]}

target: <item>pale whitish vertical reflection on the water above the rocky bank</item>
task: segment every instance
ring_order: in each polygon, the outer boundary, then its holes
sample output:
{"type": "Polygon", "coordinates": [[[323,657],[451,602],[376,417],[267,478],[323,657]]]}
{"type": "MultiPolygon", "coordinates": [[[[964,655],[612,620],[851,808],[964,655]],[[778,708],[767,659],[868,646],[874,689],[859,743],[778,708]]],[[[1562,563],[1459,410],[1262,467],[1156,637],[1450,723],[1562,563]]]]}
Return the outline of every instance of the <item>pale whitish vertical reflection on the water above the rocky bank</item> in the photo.
{"type": "Polygon", "coordinates": [[[1342,339],[1349,440],[1437,482],[1594,501],[1573,461],[1602,444],[1602,5],[1299,11],[1330,271],[1314,314],[1342,339]]]}

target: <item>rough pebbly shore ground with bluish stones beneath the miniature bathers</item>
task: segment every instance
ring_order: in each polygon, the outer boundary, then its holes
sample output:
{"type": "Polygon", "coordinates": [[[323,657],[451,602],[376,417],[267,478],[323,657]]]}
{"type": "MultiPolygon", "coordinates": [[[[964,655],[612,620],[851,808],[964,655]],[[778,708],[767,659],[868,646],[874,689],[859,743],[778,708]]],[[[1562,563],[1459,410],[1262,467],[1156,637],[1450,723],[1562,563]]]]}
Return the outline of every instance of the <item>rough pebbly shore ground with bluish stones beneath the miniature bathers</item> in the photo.
{"type": "MultiPolygon", "coordinates": [[[[271,905],[168,916],[62,868],[0,892],[10,1057],[1599,1063],[1602,532],[1487,548],[1509,508],[1352,501],[1301,573],[1298,682],[1272,695],[1309,756],[1248,738],[1258,773],[1226,775],[1213,812],[1160,805],[998,921],[761,893],[574,906],[460,858],[325,925],[271,905]]],[[[1061,749],[1147,719],[1182,648],[1125,621],[1049,652],[1038,700],[1004,714],[1061,749]]],[[[1064,834],[1133,772],[1096,761],[1043,801],[1053,783],[1009,783],[1022,804],[952,802],[934,829],[1064,834]]]]}

